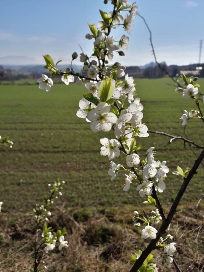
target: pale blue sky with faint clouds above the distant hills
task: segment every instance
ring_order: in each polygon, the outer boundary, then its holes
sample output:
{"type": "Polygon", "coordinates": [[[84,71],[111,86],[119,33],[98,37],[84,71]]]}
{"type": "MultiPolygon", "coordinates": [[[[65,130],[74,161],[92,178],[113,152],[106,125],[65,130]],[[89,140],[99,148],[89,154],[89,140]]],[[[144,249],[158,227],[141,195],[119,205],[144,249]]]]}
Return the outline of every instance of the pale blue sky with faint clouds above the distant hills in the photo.
{"type": "MultiPolygon", "coordinates": [[[[89,33],[87,22],[97,24],[101,18],[99,8],[112,9],[102,0],[7,0],[0,4],[0,64],[19,65],[41,64],[42,54],[70,63],[71,54],[80,53],[79,44],[91,54],[93,40],[85,39],[89,33]]],[[[204,40],[203,0],[138,0],[137,4],[152,30],[158,61],[168,65],[198,62],[199,40],[204,40]]],[[[122,27],[112,31],[116,40],[123,34],[128,35],[122,27]]],[[[134,21],[125,57],[116,55],[114,60],[127,66],[154,61],[141,18],[134,21]]],[[[79,60],[75,63],[79,64],[79,60]]]]}

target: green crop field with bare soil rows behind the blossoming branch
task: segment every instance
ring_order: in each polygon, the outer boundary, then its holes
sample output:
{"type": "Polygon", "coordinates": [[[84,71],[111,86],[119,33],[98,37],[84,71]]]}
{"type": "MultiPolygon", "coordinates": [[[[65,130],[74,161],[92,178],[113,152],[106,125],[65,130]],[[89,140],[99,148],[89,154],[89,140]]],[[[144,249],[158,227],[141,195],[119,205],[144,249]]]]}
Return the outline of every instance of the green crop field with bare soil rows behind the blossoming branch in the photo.
{"type": "MultiPolygon", "coordinates": [[[[174,91],[170,79],[136,79],[136,90],[144,105],[144,118],[150,130],[184,135],[183,110],[196,109],[193,100],[183,99],[174,91]]],[[[199,79],[201,86],[204,79],[199,79]]],[[[201,87],[202,89],[202,87],[201,87]]],[[[85,86],[56,84],[45,92],[32,86],[0,86],[0,135],[9,135],[12,149],[1,147],[1,201],[4,212],[29,212],[47,192],[47,184],[56,177],[65,180],[62,200],[67,207],[124,206],[137,207],[141,201],[136,187],[123,191],[124,176],[111,181],[107,174],[109,161],[100,155],[100,138],[114,138],[112,132],[93,133],[84,119],[76,117],[79,99],[85,86]]],[[[202,92],[202,91],[201,91],[202,92]]],[[[204,110],[204,103],[201,105],[204,110]]],[[[202,122],[189,121],[186,135],[203,144],[202,122]]],[[[199,150],[183,146],[182,141],[168,143],[169,138],[150,134],[138,138],[145,158],[147,148],[154,146],[157,160],[167,160],[170,173],[167,189],[161,198],[171,203],[182,180],[171,172],[191,167],[199,150]],[[192,150],[193,149],[193,150],[192,150]]],[[[118,162],[117,160],[115,160],[118,162]]],[[[124,160],[125,161],[125,160],[124,160]]],[[[193,178],[183,201],[202,197],[203,167],[193,178]]]]}

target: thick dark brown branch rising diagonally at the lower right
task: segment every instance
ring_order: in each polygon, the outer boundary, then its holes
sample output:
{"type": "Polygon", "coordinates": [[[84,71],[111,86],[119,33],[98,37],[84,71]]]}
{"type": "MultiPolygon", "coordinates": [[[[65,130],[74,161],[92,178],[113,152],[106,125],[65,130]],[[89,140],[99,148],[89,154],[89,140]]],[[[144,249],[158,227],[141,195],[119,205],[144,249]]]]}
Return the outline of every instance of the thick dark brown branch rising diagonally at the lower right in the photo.
{"type": "Polygon", "coordinates": [[[141,265],[143,264],[143,262],[145,261],[147,256],[151,253],[151,251],[153,249],[155,249],[157,241],[160,239],[162,234],[164,234],[166,229],[168,228],[168,225],[170,224],[170,222],[173,218],[173,215],[176,212],[176,208],[177,208],[180,200],[182,199],[182,196],[183,196],[184,192],[186,191],[186,188],[187,188],[189,182],[191,181],[193,176],[197,173],[197,169],[198,169],[199,165],[201,164],[203,158],[204,158],[204,149],[201,151],[199,157],[197,158],[193,167],[189,171],[188,176],[186,178],[184,178],[183,184],[182,184],[179,192],[177,193],[177,196],[176,196],[176,198],[171,206],[171,209],[167,215],[167,219],[162,223],[162,225],[160,226],[160,228],[157,232],[157,237],[154,240],[151,240],[151,242],[149,243],[147,248],[145,248],[145,250],[142,252],[141,256],[138,258],[138,260],[135,262],[135,264],[131,268],[130,272],[138,271],[138,269],[141,267],[141,265]]]}

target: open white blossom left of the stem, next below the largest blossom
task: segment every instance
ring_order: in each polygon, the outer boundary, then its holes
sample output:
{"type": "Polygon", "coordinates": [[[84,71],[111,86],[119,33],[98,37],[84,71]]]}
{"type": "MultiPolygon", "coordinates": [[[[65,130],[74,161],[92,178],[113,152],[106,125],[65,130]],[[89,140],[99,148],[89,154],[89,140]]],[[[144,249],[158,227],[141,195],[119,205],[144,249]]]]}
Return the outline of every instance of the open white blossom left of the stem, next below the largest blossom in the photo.
{"type": "Polygon", "coordinates": [[[100,143],[103,145],[101,147],[101,152],[100,152],[102,156],[108,156],[109,160],[112,160],[115,157],[119,157],[120,155],[119,147],[121,145],[118,142],[118,140],[115,140],[115,139],[109,140],[108,138],[102,138],[100,139],[100,143]]]}

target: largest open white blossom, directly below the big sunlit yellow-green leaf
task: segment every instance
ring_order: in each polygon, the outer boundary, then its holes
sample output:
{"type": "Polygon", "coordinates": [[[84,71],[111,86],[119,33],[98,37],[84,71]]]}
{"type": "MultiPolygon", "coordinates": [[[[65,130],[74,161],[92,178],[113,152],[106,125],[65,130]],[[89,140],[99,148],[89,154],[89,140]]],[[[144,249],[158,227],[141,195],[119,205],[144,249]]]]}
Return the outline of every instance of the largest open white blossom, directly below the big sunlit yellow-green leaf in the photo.
{"type": "Polygon", "coordinates": [[[100,102],[96,109],[89,112],[88,119],[91,121],[90,128],[93,132],[111,130],[112,124],[116,123],[118,118],[114,113],[109,111],[110,105],[106,102],[100,102]]]}

